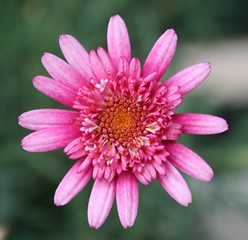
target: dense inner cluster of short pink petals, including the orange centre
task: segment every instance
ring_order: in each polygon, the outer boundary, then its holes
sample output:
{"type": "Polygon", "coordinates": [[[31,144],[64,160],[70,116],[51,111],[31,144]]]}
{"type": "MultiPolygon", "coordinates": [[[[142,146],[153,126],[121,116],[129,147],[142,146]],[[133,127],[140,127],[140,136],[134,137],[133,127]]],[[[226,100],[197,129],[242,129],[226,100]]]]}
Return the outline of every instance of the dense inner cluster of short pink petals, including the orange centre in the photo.
{"type": "Polygon", "coordinates": [[[149,184],[165,174],[164,141],[181,134],[172,116],[182,96],[178,87],[158,82],[155,73],[143,78],[135,58],[130,63],[121,58],[118,66],[112,75],[99,73],[78,90],[73,107],[80,113],[76,124],[82,135],[76,140],[80,144],[69,144],[65,152],[70,158],[86,157],[94,179],[111,182],[132,172],[149,184]]]}

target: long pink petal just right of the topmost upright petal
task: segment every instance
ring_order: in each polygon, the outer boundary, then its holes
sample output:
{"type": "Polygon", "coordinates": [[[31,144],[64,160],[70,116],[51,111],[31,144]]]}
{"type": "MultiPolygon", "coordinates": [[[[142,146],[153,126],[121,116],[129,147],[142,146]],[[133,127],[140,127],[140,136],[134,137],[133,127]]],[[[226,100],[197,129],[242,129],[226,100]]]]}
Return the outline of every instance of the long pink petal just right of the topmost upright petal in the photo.
{"type": "Polygon", "coordinates": [[[177,45],[177,35],[173,29],[168,29],[154,44],[152,50],[148,54],[143,71],[142,77],[145,78],[153,72],[157,72],[157,80],[159,80],[174,56],[177,45]]]}

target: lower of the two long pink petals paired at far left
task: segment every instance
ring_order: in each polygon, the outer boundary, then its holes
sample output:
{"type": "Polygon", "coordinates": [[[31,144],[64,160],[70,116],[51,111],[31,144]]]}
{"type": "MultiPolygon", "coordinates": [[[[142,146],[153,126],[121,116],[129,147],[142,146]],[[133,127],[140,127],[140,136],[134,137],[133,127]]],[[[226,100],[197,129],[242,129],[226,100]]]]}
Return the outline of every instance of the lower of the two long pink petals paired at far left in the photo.
{"type": "Polygon", "coordinates": [[[78,127],[70,125],[41,129],[23,138],[22,147],[29,152],[52,151],[65,147],[79,135],[78,127]]]}

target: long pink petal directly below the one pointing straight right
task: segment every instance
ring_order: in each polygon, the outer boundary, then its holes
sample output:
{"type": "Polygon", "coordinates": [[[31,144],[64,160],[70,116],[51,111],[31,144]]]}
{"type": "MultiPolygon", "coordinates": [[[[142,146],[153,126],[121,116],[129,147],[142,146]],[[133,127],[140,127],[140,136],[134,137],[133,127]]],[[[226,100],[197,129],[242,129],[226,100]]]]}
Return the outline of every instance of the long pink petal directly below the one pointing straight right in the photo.
{"type": "Polygon", "coordinates": [[[189,176],[201,181],[210,181],[214,175],[211,167],[195,152],[180,143],[168,142],[170,162],[189,176]]]}

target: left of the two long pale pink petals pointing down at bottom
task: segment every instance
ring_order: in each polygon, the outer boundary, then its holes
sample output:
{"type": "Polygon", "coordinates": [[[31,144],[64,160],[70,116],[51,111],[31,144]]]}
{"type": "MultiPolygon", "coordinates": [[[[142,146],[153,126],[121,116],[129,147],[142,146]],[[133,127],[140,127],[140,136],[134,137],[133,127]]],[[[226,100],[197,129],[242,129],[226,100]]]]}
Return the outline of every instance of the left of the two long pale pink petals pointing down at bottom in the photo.
{"type": "Polygon", "coordinates": [[[114,202],[115,189],[115,181],[108,182],[105,178],[95,180],[88,205],[91,227],[99,228],[105,222],[114,202]]]}

